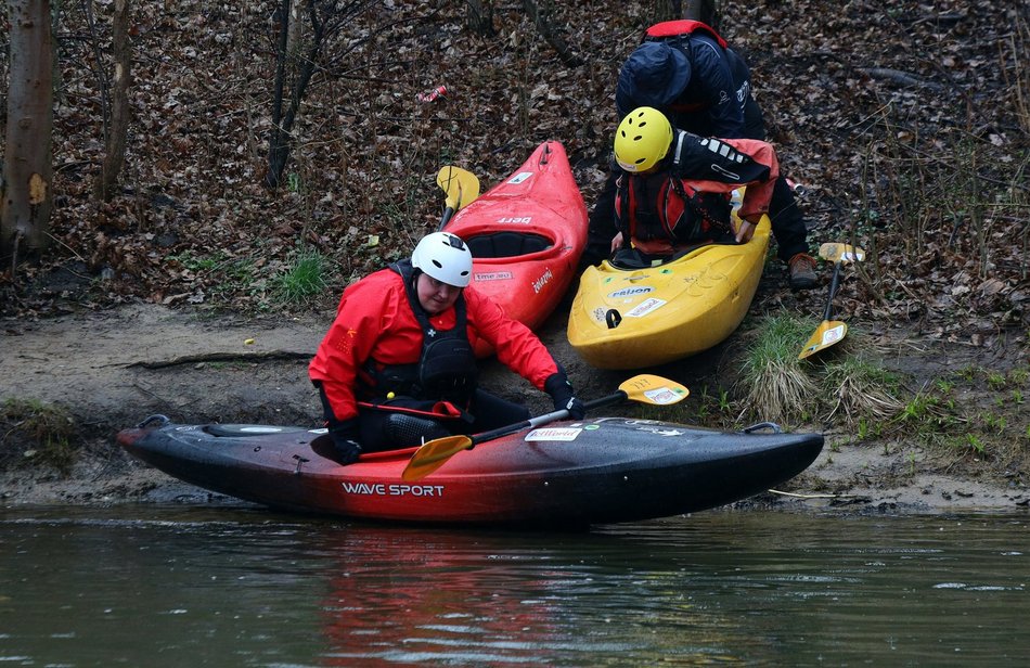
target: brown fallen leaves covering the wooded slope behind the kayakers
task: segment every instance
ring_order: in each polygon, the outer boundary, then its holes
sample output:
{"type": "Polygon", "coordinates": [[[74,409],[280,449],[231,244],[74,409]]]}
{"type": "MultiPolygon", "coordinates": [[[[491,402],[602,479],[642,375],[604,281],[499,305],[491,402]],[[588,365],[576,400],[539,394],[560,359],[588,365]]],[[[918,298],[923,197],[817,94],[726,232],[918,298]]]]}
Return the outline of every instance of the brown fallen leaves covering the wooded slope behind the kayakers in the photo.
{"type": "MultiPolygon", "coordinates": [[[[782,163],[808,189],[810,241],[857,237],[875,248],[870,270],[841,288],[851,312],[923,319],[949,336],[963,323],[1025,325],[1030,197],[1018,175],[1030,140],[1010,101],[1030,81],[1015,67],[1027,52],[1012,35],[1016,9],[987,0],[903,0],[889,12],[864,2],[832,12],[815,0],[721,4],[721,31],[751,66],[782,163]],[[978,194],[963,191],[971,183],[978,194]],[[991,216],[976,196],[991,203],[991,216]]],[[[260,185],[274,43],[259,8],[211,11],[184,0],[175,16],[137,8],[133,126],[123,193],[110,205],[89,198],[103,158],[95,64],[86,50],[63,51],[52,226],[60,244],[48,261],[88,258],[94,277],[111,277],[89,295],[100,301],[267,308],[260,281],[302,241],[337,259],[321,305],[331,309],[351,275],[405,255],[435,229],[441,164],[472,170],[486,191],[537,143],[556,139],[592,206],[618,123],[618,66],[647,12],[552,8],[587,61],[568,67],[517,7],[498,8],[497,38],[434,7],[370,11],[335,46],[332,68],[316,76],[301,107],[279,191],[260,185]],[[366,44],[356,39],[381,27],[366,44]],[[446,97],[417,101],[440,85],[446,97]],[[188,270],[175,259],[184,254],[213,268],[188,270]],[[230,256],[235,264],[216,261],[230,256]],[[261,274],[241,273],[240,262],[261,274]]],[[[65,10],[69,30],[83,20],[78,11],[65,10]]],[[[4,290],[21,291],[3,300],[5,312],[54,304],[46,283],[4,290]]]]}

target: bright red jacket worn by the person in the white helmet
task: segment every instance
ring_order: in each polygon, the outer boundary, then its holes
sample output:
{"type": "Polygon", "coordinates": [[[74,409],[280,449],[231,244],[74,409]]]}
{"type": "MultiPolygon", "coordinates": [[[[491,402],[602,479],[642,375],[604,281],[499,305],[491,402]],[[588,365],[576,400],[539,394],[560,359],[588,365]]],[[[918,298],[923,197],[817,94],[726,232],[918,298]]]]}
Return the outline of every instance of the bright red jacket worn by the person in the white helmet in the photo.
{"type": "MultiPolygon", "coordinates": [[[[540,339],[474,286],[466,287],[460,299],[465,303],[468,343],[475,346],[480,338],[486,341],[502,363],[543,389],[558,365],[540,339]]],[[[428,322],[441,332],[452,330],[458,322],[455,308],[429,316],[428,322]]],[[[335,418],[350,420],[358,416],[359,400],[375,400],[386,393],[374,386],[369,364],[376,369],[417,364],[423,338],[404,279],[394,269],[383,269],[344,291],[308,375],[321,382],[335,418]]]]}

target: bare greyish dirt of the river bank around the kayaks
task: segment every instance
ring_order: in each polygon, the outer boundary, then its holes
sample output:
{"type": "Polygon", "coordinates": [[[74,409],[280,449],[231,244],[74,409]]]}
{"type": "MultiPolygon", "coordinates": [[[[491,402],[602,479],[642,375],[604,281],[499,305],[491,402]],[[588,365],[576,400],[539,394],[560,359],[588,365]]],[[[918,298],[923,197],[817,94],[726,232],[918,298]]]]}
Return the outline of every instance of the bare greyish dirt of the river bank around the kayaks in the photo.
{"type": "MultiPolygon", "coordinates": [[[[155,305],[9,321],[0,339],[0,395],[69,407],[86,438],[68,476],[26,465],[0,473],[0,502],[224,501],[132,460],[114,435],[153,413],[186,423],[318,424],[318,399],[306,365],[329,324],[329,313],[272,322],[155,305]]],[[[565,326],[559,309],[541,338],[568,367],[581,396],[609,394],[626,374],[597,372],[579,361],[565,326]]],[[[919,356],[940,368],[955,361],[941,350],[919,356]]],[[[703,365],[704,360],[691,363],[693,369],[703,365]]],[[[495,361],[487,362],[486,371],[492,390],[535,412],[551,410],[543,394],[517,376],[513,382],[495,361]]],[[[683,371],[692,373],[685,365],[683,371]]],[[[924,467],[918,451],[854,445],[848,434],[826,437],[826,448],[807,472],[747,503],[849,513],[1030,506],[1030,489],[1018,475],[981,478],[966,466],[940,473],[939,466],[924,467]]]]}

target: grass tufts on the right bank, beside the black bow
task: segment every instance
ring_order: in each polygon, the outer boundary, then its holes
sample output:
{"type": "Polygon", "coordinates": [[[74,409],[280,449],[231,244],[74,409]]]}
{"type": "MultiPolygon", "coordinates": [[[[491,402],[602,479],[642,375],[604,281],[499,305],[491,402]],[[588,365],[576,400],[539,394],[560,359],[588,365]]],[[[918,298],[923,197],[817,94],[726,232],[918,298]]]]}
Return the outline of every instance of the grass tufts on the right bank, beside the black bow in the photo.
{"type": "MultiPolygon", "coordinates": [[[[712,376],[695,381],[685,401],[634,411],[640,418],[713,428],[769,420],[787,429],[850,434],[845,442],[883,444],[885,453],[925,449],[920,466],[991,462],[1018,470],[1030,461],[1025,415],[1030,367],[1001,372],[969,364],[920,380],[913,389],[914,378],[885,365],[889,350],[858,329],[799,361],[815,324],[785,312],[749,321],[737,335],[739,345],[712,376]]],[[[831,441],[829,449],[839,446],[831,441]]],[[[914,455],[905,457],[911,472],[914,455]]]]}

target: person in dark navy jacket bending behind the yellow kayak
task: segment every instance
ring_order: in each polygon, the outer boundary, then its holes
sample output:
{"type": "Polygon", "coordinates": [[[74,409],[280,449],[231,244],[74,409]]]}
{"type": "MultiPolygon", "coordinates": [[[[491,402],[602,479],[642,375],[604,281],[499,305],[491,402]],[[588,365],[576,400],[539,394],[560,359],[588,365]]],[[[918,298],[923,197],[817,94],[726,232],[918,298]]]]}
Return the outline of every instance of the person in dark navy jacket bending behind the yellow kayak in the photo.
{"type": "MultiPolygon", "coordinates": [[[[673,127],[701,137],[765,139],[747,64],[713,28],[697,21],[666,21],[647,28],[619,70],[615,101],[620,118],[636,107],[652,106],[673,127]]],[[[582,262],[598,261],[614,233],[615,178],[609,175],[590,215],[582,262]]],[[[782,175],[774,183],[770,218],[790,287],[814,287],[815,260],[808,254],[804,217],[782,175]]]]}

